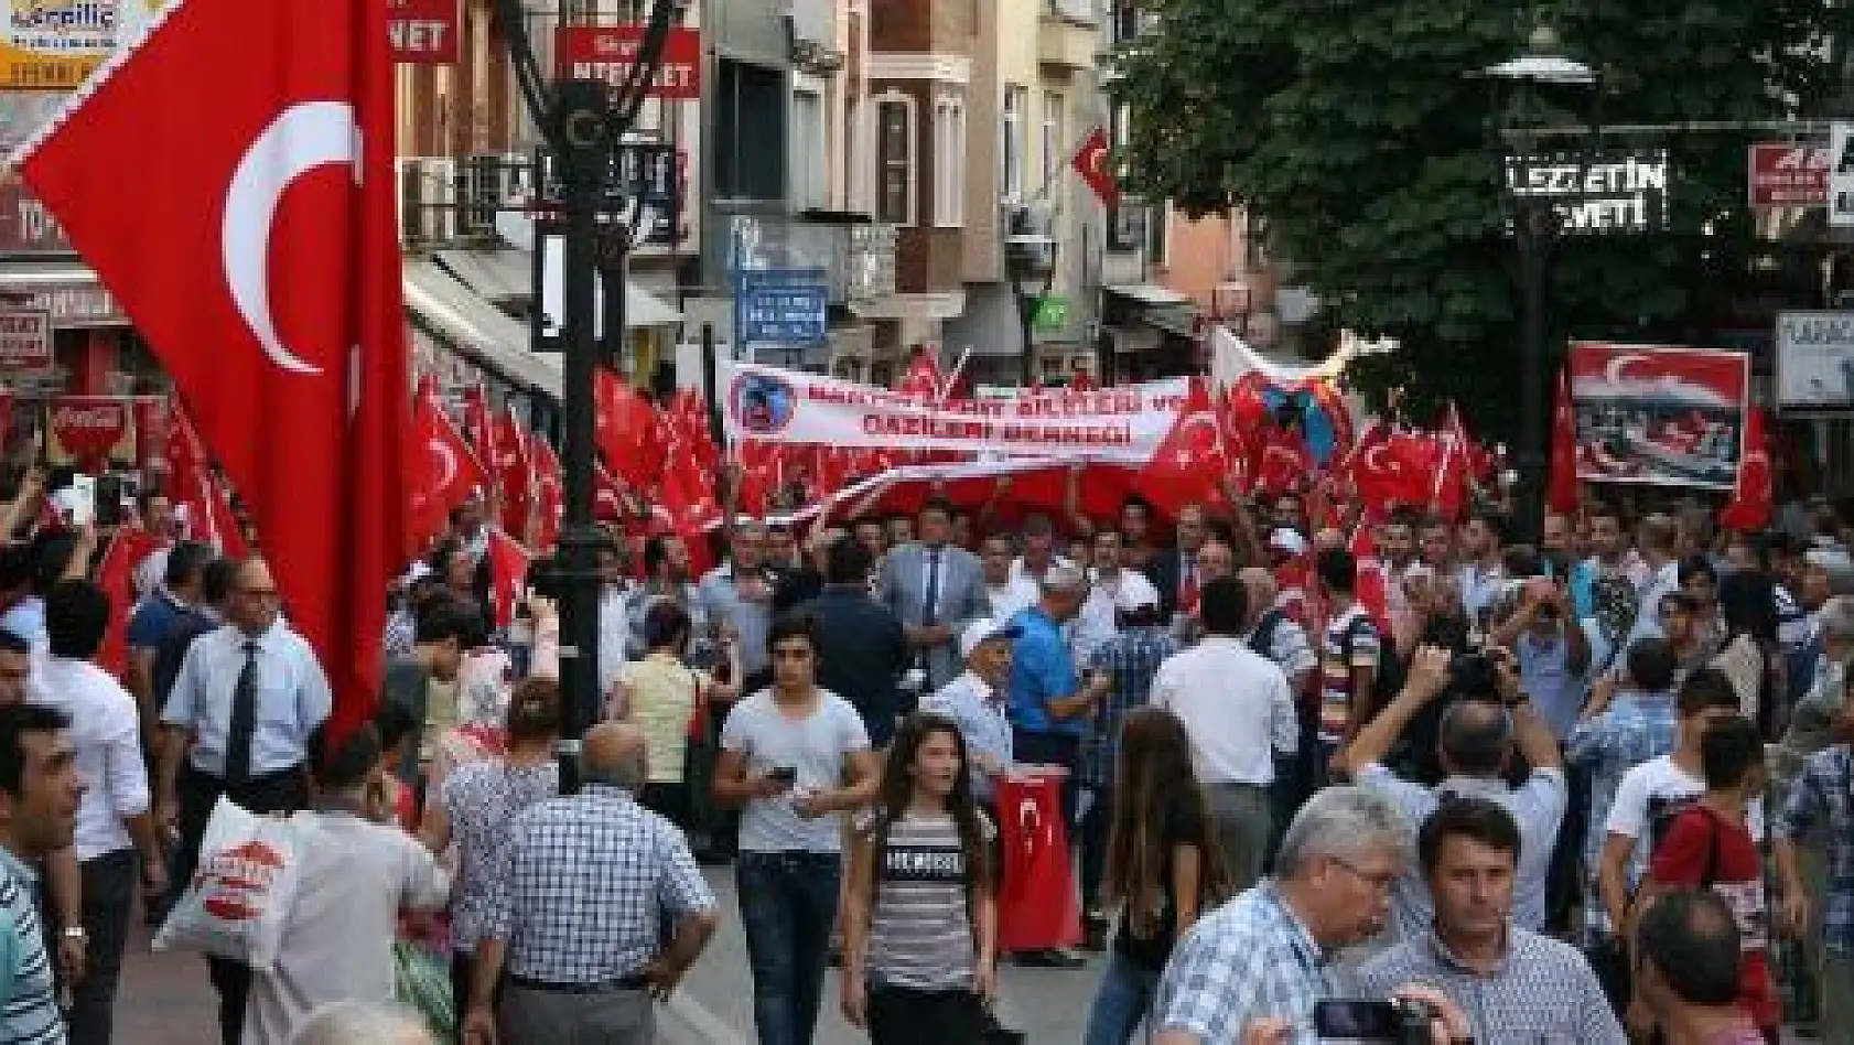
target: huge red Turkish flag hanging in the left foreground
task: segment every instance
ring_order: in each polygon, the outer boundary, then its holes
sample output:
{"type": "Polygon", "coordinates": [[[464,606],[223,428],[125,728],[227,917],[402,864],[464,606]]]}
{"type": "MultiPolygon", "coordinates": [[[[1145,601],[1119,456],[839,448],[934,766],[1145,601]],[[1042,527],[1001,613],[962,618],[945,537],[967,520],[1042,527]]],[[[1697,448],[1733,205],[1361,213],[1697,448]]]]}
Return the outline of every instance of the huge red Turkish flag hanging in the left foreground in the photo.
{"type": "Polygon", "coordinates": [[[386,4],[174,0],[13,165],[248,504],[336,730],[360,721],[412,413],[386,4]]]}

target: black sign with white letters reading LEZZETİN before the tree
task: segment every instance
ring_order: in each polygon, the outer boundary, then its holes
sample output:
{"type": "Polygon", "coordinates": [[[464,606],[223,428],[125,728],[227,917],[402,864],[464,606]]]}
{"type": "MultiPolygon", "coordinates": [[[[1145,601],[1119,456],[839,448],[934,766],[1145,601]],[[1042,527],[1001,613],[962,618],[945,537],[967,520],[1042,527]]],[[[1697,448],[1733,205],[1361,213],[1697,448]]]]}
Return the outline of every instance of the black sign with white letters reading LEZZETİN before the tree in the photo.
{"type": "Polygon", "coordinates": [[[1507,156],[1507,191],[1520,209],[1548,206],[1567,235],[1667,228],[1665,148],[1507,156]]]}

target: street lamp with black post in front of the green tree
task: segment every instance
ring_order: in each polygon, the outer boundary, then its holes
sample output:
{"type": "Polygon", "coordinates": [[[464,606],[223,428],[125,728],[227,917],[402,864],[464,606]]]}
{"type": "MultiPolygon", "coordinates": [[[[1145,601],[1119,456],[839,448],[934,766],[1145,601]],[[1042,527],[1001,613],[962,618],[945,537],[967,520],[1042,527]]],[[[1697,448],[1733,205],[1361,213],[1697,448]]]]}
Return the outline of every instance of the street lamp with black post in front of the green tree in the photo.
{"type": "MultiPolygon", "coordinates": [[[[1596,72],[1559,54],[1557,33],[1546,26],[1531,31],[1528,50],[1513,61],[1483,70],[1483,76],[1505,80],[1518,87],[1524,117],[1526,94],[1533,87],[1591,87],[1596,72]]],[[[1550,382],[1546,380],[1544,345],[1544,276],[1552,245],[1559,233],[1559,215],[1552,202],[1537,196],[1515,196],[1513,239],[1518,243],[1520,293],[1520,437],[1515,454],[1518,469],[1517,522],[1535,539],[1544,526],[1544,487],[1550,450],[1544,435],[1544,417],[1550,382]]]]}

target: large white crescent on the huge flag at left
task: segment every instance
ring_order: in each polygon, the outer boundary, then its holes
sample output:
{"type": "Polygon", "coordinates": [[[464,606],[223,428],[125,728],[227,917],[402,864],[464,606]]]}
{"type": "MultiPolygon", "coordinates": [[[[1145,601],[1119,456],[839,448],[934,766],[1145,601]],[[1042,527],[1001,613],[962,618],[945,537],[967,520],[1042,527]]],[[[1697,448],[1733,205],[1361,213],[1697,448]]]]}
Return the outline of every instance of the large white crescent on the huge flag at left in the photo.
{"type": "Polygon", "coordinates": [[[278,337],[271,313],[271,226],[297,178],[328,163],[347,163],[360,182],[360,126],[347,102],[298,102],[284,109],[245,150],[226,185],[221,248],[232,304],[278,369],[321,374],[278,337]]]}

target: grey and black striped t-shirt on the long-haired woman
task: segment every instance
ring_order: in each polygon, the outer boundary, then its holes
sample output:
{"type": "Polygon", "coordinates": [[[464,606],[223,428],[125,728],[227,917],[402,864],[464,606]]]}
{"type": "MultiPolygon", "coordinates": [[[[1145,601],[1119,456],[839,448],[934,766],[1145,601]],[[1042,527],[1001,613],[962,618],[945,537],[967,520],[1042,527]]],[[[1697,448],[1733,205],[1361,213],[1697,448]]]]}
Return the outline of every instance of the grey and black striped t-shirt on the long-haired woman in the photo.
{"type": "Polygon", "coordinates": [[[903,815],[877,841],[870,980],[918,991],[970,989],[971,876],[959,825],[951,815],[903,815]]]}

